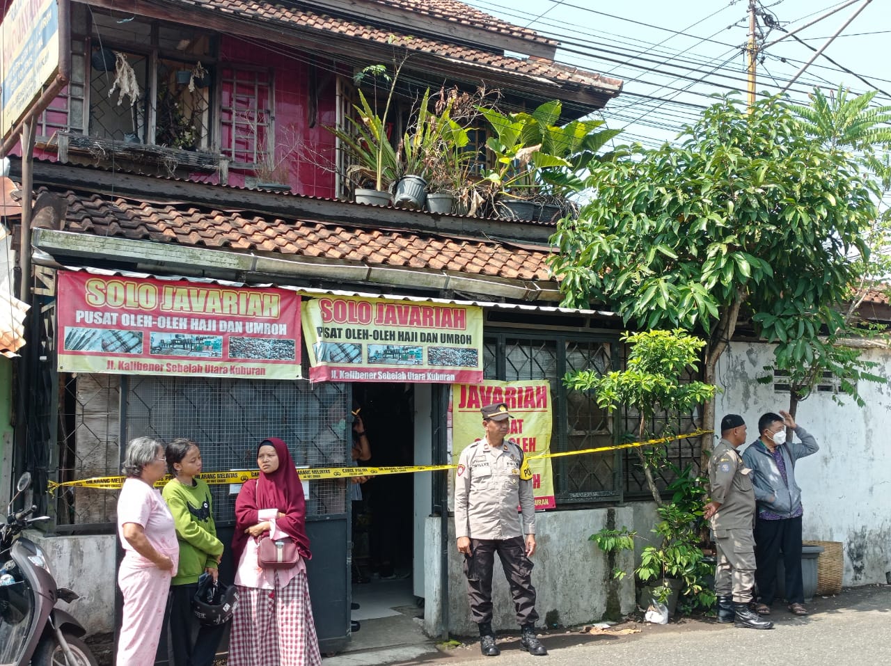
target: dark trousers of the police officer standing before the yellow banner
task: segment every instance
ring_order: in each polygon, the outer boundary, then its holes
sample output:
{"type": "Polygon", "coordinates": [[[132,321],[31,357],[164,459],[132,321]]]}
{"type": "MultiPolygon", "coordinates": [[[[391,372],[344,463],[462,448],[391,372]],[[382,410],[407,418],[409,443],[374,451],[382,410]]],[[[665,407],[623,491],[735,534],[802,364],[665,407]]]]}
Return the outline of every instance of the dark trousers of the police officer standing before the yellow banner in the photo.
{"type": "Polygon", "coordinates": [[[477,624],[492,621],[492,566],[495,553],[501,559],[504,577],[511,587],[513,605],[520,626],[535,624],[535,588],[532,587],[532,560],[526,556],[523,537],[512,539],[471,539],[470,556],[464,556],[470,615],[477,624]]]}

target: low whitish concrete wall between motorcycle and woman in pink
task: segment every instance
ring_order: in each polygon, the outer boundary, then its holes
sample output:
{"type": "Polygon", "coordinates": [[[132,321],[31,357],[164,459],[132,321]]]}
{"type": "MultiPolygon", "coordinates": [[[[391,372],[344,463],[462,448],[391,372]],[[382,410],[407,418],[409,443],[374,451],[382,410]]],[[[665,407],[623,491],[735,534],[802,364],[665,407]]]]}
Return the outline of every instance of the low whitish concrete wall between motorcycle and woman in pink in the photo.
{"type": "Polygon", "coordinates": [[[29,531],[29,539],[43,548],[53,567],[56,584],[73,589],[80,598],[58,603],[84,625],[87,634],[114,630],[114,593],[117,584],[113,535],[46,537],[29,531]]]}

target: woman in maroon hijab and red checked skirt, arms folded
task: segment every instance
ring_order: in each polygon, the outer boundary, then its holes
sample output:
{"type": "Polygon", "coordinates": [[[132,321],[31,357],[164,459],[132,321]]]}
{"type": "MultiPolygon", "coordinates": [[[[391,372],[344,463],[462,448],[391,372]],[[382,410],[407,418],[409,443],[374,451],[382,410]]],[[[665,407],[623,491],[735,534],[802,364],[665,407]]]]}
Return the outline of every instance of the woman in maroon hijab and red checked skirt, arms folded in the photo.
{"type": "Polygon", "coordinates": [[[257,451],[260,475],[241,486],[235,500],[233,556],[238,607],[229,641],[229,666],[321,666],[309,603],[307,503],[287,445],[266,439],[257,451]],[[298,547],[297,564],[263,569],[257,541],[289,536],[298,547]]]}

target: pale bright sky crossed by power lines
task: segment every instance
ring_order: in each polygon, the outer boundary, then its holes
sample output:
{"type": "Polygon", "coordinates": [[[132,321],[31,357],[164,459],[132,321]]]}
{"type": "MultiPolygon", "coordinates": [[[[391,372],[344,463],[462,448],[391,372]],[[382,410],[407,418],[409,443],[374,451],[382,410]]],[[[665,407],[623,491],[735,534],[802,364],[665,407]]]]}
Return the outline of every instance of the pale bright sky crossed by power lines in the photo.
{"type": "MultiPolygon", "coordinates": [[[[826,93],[844,85],[852,93],[878,90],[873,104],[891,105],[891,2],[888,0],[759,0],[767,47],[759,53],[756,89],[779,93],[851,17],[861,10],[789,86],[806,102],[815,85],[826,93]],[[847,5],[847,6],[846,6],[847,5]],[[795,37],[770,43],[840,8],[795,37]],[[772,24],[773,28],[768,28],[772,24]],[[801,41],[797,41],[799,37],[801,41]]],[[[709,95],[746,95],[748,0],[463,0],[484,12],[527,26],[563,47],[556,60],[622,79],[623,92],[601,112],[621,127],[617,142],[656,147],[673,141],[684,125],[714,102],[709,95]]]]}

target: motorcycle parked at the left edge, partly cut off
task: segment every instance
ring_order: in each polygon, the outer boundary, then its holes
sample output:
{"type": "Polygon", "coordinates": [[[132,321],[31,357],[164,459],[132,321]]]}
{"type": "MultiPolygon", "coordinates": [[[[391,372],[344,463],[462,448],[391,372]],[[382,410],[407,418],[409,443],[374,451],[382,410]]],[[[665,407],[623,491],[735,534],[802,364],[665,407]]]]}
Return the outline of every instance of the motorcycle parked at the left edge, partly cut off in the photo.
{"type": "Polygon", "coordinates": [[[0,666],[96,666],[82,638],[86,634],[56,600],[78,595],[56,586],[45,553],[22,532],[49,516],[29,517],[36,506],[12,513],[12,505],[28,490],[31,475],[21,475],[16,494],[0,527],[0,666]]]}

